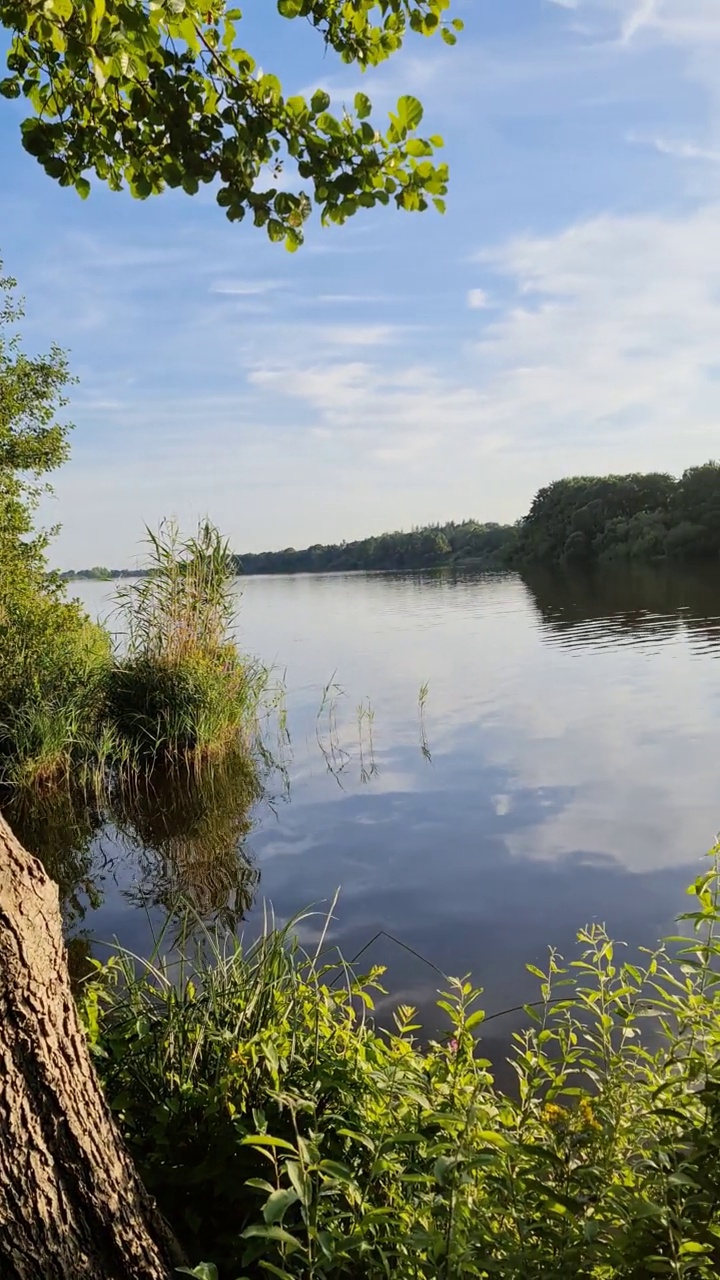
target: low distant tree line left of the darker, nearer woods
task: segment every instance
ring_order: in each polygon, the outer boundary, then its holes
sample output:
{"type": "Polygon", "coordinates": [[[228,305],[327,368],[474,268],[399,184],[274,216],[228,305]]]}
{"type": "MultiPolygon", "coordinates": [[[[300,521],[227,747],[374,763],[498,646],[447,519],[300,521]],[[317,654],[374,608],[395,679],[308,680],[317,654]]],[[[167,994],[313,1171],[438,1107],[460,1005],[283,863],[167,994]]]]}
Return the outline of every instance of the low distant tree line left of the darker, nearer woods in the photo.
{"type": "Polygon", "coordinates": [[[410,532],[380,534],[363,541],[306,550],[287,548],[283,552],[260,552],[237,557],[242,573],[329,573],[352,570],[418,570],[443,564],[473,564],[478,568],[500,568],[515,541],[515,529],[509,525],[480,525],[475,520],[461,524],[429,525],[410,532]]]}

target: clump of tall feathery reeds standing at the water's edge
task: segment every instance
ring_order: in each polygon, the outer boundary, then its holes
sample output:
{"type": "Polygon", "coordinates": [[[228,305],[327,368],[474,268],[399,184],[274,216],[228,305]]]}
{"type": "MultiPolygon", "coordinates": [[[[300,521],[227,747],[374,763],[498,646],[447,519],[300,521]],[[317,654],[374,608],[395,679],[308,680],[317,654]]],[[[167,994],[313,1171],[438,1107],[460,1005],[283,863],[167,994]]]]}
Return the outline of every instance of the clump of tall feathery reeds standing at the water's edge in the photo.
{"type": "Polygon", "coordinates": [[[167,522],[149,547],[147,576],[118,591],[127,648],[109,712],[132,755],[201,762],[252,727],[264,673],[229,639],[234,559],[218,530],[183,540],[167,522]]]}

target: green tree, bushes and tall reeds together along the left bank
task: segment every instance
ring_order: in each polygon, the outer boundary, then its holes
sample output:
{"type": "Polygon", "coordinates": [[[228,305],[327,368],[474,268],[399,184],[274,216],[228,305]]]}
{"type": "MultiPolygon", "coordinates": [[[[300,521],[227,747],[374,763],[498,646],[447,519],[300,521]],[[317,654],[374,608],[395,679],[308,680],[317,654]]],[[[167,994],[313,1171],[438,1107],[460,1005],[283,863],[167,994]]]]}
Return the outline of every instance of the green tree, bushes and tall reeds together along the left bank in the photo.
{"type": "Polygon", "coordinates": [[[68,452],[58,412],[70,379],[56,348],[23,353],[14,282],[0,293],[0,785],[70,786],[247,744],[265,673],[228,639],[234,562],[209,522],[186,541],[174,526],[150,538],[147,576],[119,593],[122,659],[49,571],[35,515],[68,452]]]}

